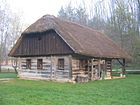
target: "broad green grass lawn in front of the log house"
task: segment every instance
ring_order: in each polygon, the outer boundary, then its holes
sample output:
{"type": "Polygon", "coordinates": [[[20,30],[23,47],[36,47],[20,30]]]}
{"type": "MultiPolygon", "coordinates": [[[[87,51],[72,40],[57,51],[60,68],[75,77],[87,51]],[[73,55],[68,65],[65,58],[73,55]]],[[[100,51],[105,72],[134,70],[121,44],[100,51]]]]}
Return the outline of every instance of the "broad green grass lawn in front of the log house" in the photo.
{"type": "Polygon", "coordinates": [[[140,75],[83,84],[0,81],[0,105],[140,105],[140,75]]]}

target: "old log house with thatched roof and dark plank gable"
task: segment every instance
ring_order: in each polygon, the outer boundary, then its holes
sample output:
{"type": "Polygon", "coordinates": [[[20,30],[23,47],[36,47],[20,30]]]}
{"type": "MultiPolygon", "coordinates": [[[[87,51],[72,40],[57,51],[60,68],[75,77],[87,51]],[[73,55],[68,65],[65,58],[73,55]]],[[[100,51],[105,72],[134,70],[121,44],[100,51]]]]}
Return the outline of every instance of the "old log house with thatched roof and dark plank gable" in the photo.
{"type": "Polygon", "coordinates": [[[65,81],[112,78],[112,60],[129,57],[110,38],[91,28],[45,15],[20,36],[9,56],[19,59],[19,76],[65,81]]]}

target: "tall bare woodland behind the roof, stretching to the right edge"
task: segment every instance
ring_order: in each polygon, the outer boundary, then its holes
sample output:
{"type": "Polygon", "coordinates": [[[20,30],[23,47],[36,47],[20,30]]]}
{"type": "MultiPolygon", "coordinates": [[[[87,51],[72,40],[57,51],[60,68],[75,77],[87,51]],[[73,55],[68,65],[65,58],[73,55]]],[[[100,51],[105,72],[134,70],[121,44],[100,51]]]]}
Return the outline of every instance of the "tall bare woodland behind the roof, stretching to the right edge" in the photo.
{"type": "Polygon", "coordinates": [[[140,62],[140,0],[91,1],[89,12],[86,6],[69,5],[63,8],[63,16],[82,24],[87,19],[83,25],[103,31],[134,58],[134,63],[140,62]]]}

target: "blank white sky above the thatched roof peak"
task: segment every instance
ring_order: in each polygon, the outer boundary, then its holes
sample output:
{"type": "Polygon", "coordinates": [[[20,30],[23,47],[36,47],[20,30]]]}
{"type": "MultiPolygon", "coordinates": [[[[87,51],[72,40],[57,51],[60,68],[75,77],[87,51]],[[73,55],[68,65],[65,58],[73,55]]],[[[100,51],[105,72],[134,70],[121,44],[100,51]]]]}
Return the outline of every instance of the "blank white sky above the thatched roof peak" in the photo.
{"type": "MultiPolygon", "coordinates": [[[[21,12],[24,22],[31,24],[43,15],[50,14],[57,16],[61,6],[67,5],[70,1],[79,5],[82,0],[6,0],[14,12],[21,12]]],[[[90,0],[89,0],[90,1],[90,0]]]]}

